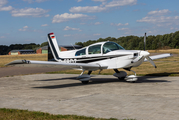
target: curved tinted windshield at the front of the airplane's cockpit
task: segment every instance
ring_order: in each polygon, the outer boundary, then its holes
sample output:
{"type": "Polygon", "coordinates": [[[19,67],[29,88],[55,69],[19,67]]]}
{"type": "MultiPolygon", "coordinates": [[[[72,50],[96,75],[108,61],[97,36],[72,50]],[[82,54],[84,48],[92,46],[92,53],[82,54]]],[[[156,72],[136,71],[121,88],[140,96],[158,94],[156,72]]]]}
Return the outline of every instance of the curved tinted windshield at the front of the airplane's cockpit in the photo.
{"type": "Polygon", "coordinates": [[[124,50],[124,48],[114,42],[107,42],[103,45],[103,54],[114,50],[124,50]]]}

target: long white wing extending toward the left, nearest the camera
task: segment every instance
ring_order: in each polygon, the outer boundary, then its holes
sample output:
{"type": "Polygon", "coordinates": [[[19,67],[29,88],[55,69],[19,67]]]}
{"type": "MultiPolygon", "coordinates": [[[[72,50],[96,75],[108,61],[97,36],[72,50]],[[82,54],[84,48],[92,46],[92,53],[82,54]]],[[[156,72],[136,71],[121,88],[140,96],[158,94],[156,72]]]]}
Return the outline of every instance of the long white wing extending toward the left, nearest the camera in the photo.
{"type": "Polygon", "coordinates": [[[68,68],[80,68],[85,70],[98,70],[98,69],[106,69],[107,66],[101,66],[99,64],[87,64],[87,63],[65,63],[65,62],[52,62],[52,61],[33,61],[33,60],[15,60],[12,61],[8,65],[25,65],[25,64],[38,64],[38,65],[50,65],[50,66],[63,66],[68,68]]]}

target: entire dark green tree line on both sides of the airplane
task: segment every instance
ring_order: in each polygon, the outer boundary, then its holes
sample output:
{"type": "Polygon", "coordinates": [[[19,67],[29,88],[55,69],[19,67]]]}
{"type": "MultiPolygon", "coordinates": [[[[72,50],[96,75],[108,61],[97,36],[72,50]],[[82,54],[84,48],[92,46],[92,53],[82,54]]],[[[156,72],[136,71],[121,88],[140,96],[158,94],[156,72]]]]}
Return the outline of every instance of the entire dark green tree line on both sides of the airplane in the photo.
{"type": "MultiPolygon", "coordinates": [[[[138,36],[125,36],[125,37],[107,37],[99,38],[98,40],[88,40],[86,42],[76,42],[76,45],[82,47],[91,45],[96,42],[113,41],[121,45],[126,50],[143,50],[144,49],[144,37],[138,36]]],[[[26,50],[33,49],[34,51],[38,47],[48,45],[48,42],[40,44],[11,44],[10,46],[0,45],[0,55],[7,55],[11,50],[26,50]]],[[[164,35],[150,35],[146,37],[146,50],[156,49],[179,49],[179,31],[164,35]]]]}

